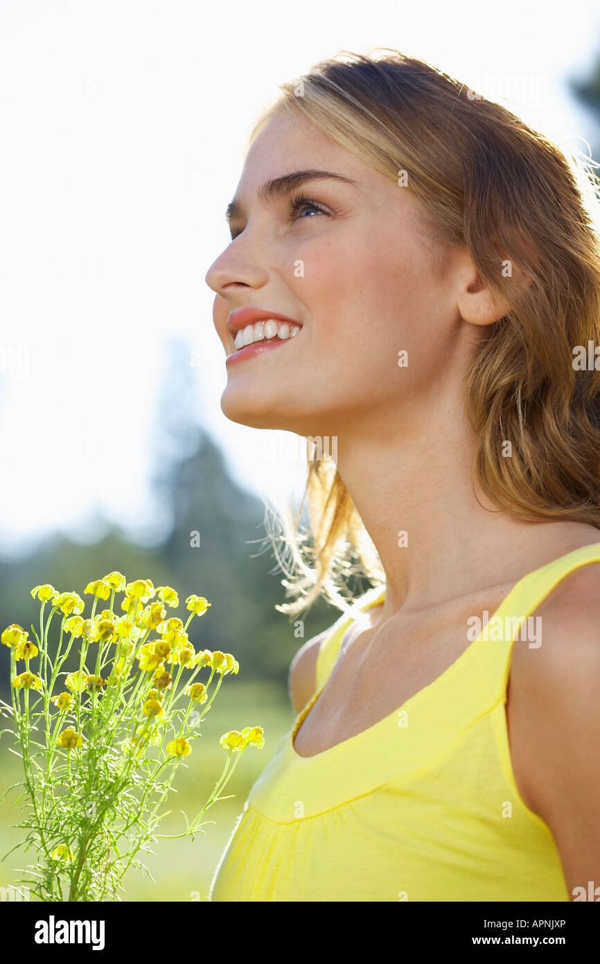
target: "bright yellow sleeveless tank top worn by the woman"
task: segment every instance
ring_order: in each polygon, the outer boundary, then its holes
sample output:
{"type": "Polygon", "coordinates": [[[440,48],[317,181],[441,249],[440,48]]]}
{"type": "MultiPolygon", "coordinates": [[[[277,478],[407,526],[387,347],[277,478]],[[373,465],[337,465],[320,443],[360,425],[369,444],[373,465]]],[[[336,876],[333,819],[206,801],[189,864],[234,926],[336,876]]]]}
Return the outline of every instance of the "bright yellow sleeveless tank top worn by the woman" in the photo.
{"type": "MultiPolygon", "coordinates": [[[[249,792],[209,900],[569,900],[552,833],[516,788],[505,705],[514,639],[535,646],[535,617],[516,633],[514,617],[592,562],[600,543],[524,576],[399,710],[300,757],[293,739],[352,623],[343,615],[321,646],[316,692],[249,792]]],[[[358,608],[383,597],[376,587],[358,608]]]]}

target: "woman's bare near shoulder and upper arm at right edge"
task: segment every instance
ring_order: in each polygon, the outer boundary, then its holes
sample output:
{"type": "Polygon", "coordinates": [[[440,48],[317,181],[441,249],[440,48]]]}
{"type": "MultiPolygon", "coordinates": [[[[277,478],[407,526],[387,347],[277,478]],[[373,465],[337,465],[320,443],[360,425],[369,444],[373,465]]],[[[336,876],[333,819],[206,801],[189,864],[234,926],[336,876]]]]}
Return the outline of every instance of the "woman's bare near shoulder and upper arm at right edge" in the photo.
{"type": "Polygon", "coordinates": [[[541,645],[512,650],[510,736],[531,808],[560,843],[600,808],[600,557],[563,576],[535,616],[541,645]]]}

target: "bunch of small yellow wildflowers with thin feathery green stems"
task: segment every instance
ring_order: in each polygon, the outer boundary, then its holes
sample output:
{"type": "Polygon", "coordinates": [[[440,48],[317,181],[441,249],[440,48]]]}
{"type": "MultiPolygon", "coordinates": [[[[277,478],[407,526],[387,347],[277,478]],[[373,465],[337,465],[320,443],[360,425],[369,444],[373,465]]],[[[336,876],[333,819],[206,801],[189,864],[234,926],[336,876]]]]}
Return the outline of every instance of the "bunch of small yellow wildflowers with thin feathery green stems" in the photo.
{"type": "Polygon", "coordinates": [[[37,863],[21,872],[27,874],[22,879],[29,892],[41,900],[119,900],[130,866],[151,877],[136,859],[139,851],[149,851],[149,844],[161,837],[194,839],[195,833],[204,833],[200,821],[209,807],[225,799],[222,790],[242,752],[264,744],[260,727],[224,734],[222,774],[202,809],[192,821],[184,814],[183,833],[157,834],[166,816],[157,811],[177,766],[200,736],[198,726],[223,677],[236,674],[239,663],[229,653],[196,652],[187,630],[194,616],[211,605],[202,596],[186,600],[191,612],[184,625],[168,617],[167,607],[179,605],[175,590],[155,589],[149,579],[127,583],[114,572],[90,582],[85,594],[93,597],[87,619],[77,593],[36,586],[32,596],[41,605],[39,635],[32,625],[35,642],[18,624],[0,637],[11,650],[13,698],[12,706],[0,700],[0,710],[13,723],[0,736],[12,733],[20,743],[24,779],[13,787],[24,788],[17,801],[25,798],[29,810],[16,824],[28,830],[16,847],[37,850],[37,863]],[[117,615],[115,594],[120,592],[123,614],[117,615]],[[109,608],[96,615],[98,601],[109,597],[109,608]],[[50,610],[44,620],[46,606],[50,610]],[[51,648],[48,634],[57,612],[62,614],[59,639],[51,648]],[[67,673],[62,667],[73,643],[79,665],[67,673]],[[25,671],[17,673],[21,660],[25,671]],[[208,678],[196,681],[202,670],[208,678]]]}

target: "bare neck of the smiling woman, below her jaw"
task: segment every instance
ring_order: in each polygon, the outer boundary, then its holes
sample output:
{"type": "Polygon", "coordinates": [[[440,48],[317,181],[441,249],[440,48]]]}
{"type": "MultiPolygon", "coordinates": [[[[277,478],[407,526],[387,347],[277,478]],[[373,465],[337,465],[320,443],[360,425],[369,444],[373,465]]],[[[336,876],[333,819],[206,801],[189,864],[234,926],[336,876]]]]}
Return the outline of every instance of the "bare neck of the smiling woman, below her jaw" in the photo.
{"type": "Polygon", "coordinates": [[[526,522],[483,493],[476,497],[474,441],[458,401],[436,399],[428,408],[417,399],[407,408],[402,422],[388,414],[352,417],[351,430],[337,438],[337,467],[385,572],[383,621],[401,608],[515,582],[600,541],[593,526],[526,522]]]}

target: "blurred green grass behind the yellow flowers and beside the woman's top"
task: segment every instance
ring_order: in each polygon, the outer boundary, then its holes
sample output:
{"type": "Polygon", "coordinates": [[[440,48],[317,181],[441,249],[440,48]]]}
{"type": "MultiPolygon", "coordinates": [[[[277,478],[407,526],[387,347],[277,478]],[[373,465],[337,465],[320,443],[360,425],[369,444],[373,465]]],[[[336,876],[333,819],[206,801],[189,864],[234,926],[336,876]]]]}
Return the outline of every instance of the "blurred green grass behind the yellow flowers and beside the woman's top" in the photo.
{"type": "MultiPolygon", "coordinates": [[[[248,747],[240,763],[223,791],[234,793],[233,799],[215,804],[205,819],[215,820],[216,825],[205,827],[206,835],[198,834],[195,840],[184,837],[179,840],[158,840],[155,853],[139,854],[143,864],[154,877],[153,882],[141,870],[129,870],[124,878],[123,901],[135,900],[191,900],[199,894],[207,900],[213,873],[221,859],[237,817],[244,809],[248,791],[274,755],[274,748],[281,736],[292,726],[294,712],[285,692],[269,683],[244,683],[235,677],[226,677],[222,688],[206,720],[202,724],[202,736],[195,741],[194,751],[180,764],[172,792],[165,801],[162,812],[172,812],[162,821],[159,833],[177,834],[185,828],[185,820],[178,809],[184,810],[192,819],[201,808],[216,780],[222,772],[226,751],[219,737],[227,730],[241,730],[245,726],[262,726],[265,745],[258,750],[248,747]]],[[[4,721],[3,726],[6,726],[4,721]]],[[[9,734],[0,740],[0,795],[7,787],[22,779],[22,762],[9,752],[9,746],[19,749],[9,734]]],[[[27,832],[13,829],[11,824],[20,820],[18,803],[13,803],[22,788],[14,788],[0,803],[0,858],[23,839],[27,832]]],[[[25,813],[25,812],[24,812],[25,813]]],[[[0,863],[0,886],[16,885],[20,873],[35,859],[35,850],[13,850],[0,863]]]]}

